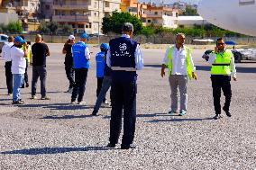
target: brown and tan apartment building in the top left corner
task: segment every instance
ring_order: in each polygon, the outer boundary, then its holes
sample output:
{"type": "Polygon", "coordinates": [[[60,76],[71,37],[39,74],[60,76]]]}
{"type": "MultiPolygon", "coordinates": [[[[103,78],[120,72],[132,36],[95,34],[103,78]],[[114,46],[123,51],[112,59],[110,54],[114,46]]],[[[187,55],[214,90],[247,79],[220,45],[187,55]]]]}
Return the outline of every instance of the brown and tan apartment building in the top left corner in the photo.
{"type": "Polygon", "coordinates": [[[40,0],[2,0],[2,13],[17,13],[22,22],[23,31],[36,31],[39,26],[37,19],[40,10],[40,0]]]}

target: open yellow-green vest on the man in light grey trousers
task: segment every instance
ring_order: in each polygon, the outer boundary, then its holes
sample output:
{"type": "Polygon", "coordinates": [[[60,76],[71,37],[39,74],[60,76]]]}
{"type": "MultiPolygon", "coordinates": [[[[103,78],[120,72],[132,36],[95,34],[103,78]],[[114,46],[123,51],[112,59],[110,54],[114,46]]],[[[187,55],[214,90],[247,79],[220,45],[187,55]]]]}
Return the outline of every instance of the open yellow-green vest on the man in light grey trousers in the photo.
{"type": "MultiPolygon", "coordinates": [[[[184,46],[184,49],[186,51],[187,76],[191,80],[191,78],[192,78],[192,67],[191,67],[190,59],[189,59],[189,57],[191,56],[191,49],[187,48],[186,46],[184,46]]],[[[171,75],[171,69],[172,69],[172,61],[171,61],[172,51],[173,51],[173,47],[169,46],[169,53],[168,53],[169,75],[171,75]]]]}

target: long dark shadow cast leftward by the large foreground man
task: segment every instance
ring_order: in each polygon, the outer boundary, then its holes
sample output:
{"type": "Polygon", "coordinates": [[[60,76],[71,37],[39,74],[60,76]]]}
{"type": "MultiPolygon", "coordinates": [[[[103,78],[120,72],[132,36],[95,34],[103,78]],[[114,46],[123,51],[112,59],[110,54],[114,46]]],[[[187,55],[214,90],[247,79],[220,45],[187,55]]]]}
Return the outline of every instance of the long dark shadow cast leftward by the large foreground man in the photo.
{"type": "Polygon", "coordinates": [[[81,148],[28,148],[21,150],[5,151],[1,152],[2,155],[44,155],[44,154],[61,154],[68,152],[87,152],[87,151],[100,151],[111,150],[117,148],[105,148],[105,147],[81,147],[81,148]]]}

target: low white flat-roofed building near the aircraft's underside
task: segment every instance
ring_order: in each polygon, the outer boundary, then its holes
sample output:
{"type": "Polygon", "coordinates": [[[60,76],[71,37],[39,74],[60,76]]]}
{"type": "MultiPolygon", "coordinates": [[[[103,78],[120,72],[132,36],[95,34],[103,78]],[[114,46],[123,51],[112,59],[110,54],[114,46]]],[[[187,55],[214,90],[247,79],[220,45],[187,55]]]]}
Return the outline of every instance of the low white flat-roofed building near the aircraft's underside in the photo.
{"type": "Polygon", "coordinates": [[[178,28],[193,28],[195,25],[206,25],[206,22],[201,16],[178,16],[178,28]]]}

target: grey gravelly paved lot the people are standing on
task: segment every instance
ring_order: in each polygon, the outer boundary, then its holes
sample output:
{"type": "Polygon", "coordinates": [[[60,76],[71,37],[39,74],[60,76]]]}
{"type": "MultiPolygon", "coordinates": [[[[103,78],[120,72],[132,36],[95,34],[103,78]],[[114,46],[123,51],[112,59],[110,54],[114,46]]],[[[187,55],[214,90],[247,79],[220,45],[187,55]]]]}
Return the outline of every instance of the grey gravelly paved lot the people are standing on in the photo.
{"type": "MultiPolygon", "coordinates": [[[[214,121],[209,69],[193,51],[198,80],[188,84],[188,112],[169,116],[168,78],[160,77],[165,49],[142,49],[145,67],[138,72],[137,148],[105,148],[110,108],[90,116],[96,101],[95,61],[87,78],[86,105],[70,105],[62,45],[51,44],[47,61],[50,101],[23,106],[5,95],[4,61],[0,60],[0,169],[256,169],[256,63],[237,64],[232,82],[232,118],[214,121]]],[[[94,54],[97,49],[92,48],[94,54]]],[[[29,67],[31,81],[32,67],[29,67]]],[[[38,86],[40,91],[40,85],[38,86]]],[[[40,94],[38,94],[40,97],[40,94]]],[[[109,98],[109,95],[108,95],[109,98]]],[[[224,102],[224,97],[222,98],[224,102]]]]}

